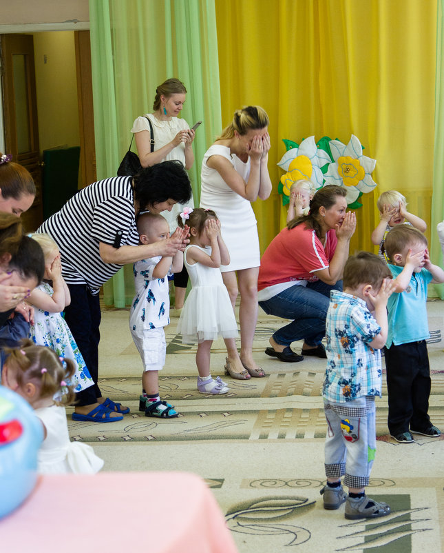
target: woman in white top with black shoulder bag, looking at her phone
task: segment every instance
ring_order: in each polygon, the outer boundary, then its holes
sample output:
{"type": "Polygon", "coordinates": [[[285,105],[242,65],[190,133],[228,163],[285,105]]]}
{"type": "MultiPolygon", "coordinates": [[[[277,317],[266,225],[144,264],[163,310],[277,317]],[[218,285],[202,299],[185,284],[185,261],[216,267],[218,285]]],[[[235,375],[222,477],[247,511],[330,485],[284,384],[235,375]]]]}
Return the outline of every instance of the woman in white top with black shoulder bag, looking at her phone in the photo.
{"type": "MultiPolygon", "coordinates": [[[[156,165],[161,161],[178,159],[185,169],[190,169],[194,163],[193,140],[195,132],[189,128],[184,119],[178,118],[182,111],[187,89],[178,79],[167,79],[156,88],[153,113],[145,113],[134,121],[131,132],[134,132],[137,152],[142,167],[156,165]],[[154,151],[151,152],[151,132],[149,121],[153,128],[154,151]]],[[[189,202],[193,206],[193,198],[189,202]]],[[[182,211],[182,204],[176,204],[171,212],[162,212],[162,216],[169,223],[171,233],[176,230],[177,216],[182,211]]],[[[175,307],[182,309],[187,292],[188,274],[184,268],[174,275],[176,288],[175,307]]]]}

